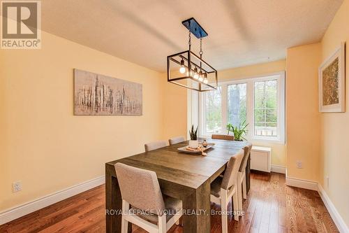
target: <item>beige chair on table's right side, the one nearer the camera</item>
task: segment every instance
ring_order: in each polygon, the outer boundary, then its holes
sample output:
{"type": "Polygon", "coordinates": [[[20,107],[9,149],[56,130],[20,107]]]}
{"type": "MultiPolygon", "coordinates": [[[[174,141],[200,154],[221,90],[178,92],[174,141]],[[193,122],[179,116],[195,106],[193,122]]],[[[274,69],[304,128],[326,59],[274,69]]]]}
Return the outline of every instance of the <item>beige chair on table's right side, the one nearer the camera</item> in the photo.
{"type": "Polygon", "coordinates": [[[228,232],[227,209],[230,199],[234,206],[234,219],[239,221],[239,204],[237,202],[237,173],[244,157],[244,150],[230,157],[223,178],[218,176],[211,183],[211,202],[221,205],[222,211],[222,232],[228,232]]]}

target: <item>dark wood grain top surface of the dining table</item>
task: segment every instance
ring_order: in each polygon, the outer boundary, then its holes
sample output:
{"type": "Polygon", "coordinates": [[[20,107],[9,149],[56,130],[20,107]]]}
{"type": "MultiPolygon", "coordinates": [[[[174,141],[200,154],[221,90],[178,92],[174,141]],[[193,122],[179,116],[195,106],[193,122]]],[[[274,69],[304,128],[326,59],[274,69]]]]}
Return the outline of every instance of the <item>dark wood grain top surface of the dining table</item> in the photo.
{"type": "Polygon", "coordinates": [[[213,180],[222,171],[231,156],[246,146],[246,141],[208,140],[215,143],[206,150],[207,156],[181,153],[177,148],[187,146],[188,141],[166,146],[147,153],[140,153],[120,160],[107,162],[110,174],[114,164],[121,162],[133,167],[155,171],[158,180],[197,189],[207,180],[213,180]]]}

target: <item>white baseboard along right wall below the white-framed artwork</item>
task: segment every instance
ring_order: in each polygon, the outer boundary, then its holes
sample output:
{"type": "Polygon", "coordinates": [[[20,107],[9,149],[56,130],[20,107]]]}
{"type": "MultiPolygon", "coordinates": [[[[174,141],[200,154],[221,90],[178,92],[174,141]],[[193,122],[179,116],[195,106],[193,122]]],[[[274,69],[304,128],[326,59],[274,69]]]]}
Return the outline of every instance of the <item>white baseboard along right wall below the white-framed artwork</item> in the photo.
{"type": "Polygon", "coordinates": [[[329,211],[329,214],[331,215],[332,219],[334,220],[334,223],[336,224],[336,227],[338,228],[339,232],[349,232],[349,228],[346,225],[346,223],[344,222],[343,218],[341,217],[341,215],[338,213],[336,207],[334,206],[334,204],[331,202],[331,199],[329,199],[329,197],[327,196],[327,193],[325,192],[325,190],[322,188],[322,186],[320,185],[320,183],[318,184],[318,193],[322,199],[322,202],[324,202],[327,211],[329,211]]]}

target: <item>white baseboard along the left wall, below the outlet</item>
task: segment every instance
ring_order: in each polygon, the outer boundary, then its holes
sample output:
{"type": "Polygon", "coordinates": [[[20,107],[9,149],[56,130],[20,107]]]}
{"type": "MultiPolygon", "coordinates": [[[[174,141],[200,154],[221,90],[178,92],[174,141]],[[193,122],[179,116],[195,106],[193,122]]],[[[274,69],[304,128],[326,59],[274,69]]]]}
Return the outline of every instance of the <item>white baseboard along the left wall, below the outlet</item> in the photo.
{"type": "Polygon", "coordinates": [[[90,181],[85,181],[80,184],[71,186],[70,188],[54,192],[50,195],[46,195],[45,197],[40,197],[38,199],[35,199],[34,201],[27,202],[20,206],[15,206],[0,213],[0,225],[25,216],[28,213],[43,209],[46,206],[60,202],[64,199],[67,199],[68,197],[73,197],[80,192],[90,190],[91,188],[95,188],[98,185],[102,185],[103,183],[105,183],[105,176],[100,176],[90,181]]]}

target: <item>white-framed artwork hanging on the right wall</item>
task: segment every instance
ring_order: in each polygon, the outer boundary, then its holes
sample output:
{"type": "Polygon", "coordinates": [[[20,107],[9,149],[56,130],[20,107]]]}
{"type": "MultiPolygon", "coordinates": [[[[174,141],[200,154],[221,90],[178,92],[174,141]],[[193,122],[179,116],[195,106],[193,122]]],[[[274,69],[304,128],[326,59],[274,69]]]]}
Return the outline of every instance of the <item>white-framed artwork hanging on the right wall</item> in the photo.
{"type": "Polygon", "coordinates": [[[346,43],[319,67],[320,113],[346,111],[346,43]]]}

